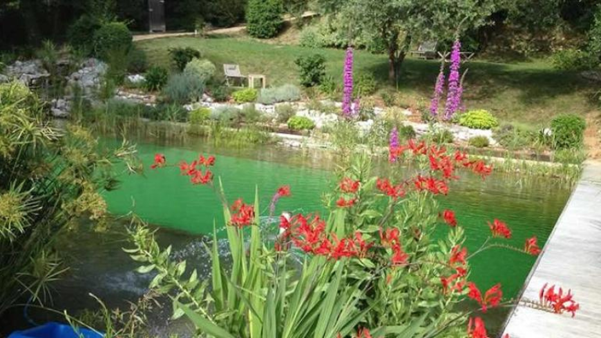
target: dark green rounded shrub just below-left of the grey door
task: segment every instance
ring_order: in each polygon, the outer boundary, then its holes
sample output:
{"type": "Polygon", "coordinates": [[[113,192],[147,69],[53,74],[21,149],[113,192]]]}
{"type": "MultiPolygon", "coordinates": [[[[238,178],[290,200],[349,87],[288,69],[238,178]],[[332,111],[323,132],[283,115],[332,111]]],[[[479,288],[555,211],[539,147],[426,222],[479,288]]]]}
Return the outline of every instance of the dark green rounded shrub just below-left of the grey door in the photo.
{"type": "Polygon", "coordinates": [[[129,52],[132,46],[131,32],[122,22],[105,23],[94,33],[93,39],[94,52],[101,59],[106,59],[111,50],[129,52]]]}

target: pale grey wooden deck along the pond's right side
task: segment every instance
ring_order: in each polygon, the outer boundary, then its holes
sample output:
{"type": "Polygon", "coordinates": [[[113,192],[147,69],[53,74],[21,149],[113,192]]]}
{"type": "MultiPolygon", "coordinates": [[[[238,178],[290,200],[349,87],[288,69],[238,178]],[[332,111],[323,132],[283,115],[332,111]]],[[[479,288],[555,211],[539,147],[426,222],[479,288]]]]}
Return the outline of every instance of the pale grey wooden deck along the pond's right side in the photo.
{"type": "Polygon", "coordinates": [[[503,333],[511,338],[601,337],[601,163],[586,163],[503,333]],[[574,318],[526,306],[545,283],[571,289],[574,318]]]}

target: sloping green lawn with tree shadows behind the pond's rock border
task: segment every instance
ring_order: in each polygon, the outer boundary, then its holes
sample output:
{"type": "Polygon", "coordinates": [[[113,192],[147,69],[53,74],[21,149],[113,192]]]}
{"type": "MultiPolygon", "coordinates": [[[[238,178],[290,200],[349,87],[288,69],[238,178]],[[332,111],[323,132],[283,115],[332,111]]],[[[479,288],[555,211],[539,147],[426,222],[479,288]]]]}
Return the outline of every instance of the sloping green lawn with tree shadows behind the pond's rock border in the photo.
{"type": "MultiPolygon", "coordinates": [[[[243,73],[266,74],[269,84],[298,83],[294,60],[305,54],[319,52],[327,59],[327,72],[342,83],[343,50],[303,48],[274,45],[259,41],[214,36],[207,39],[176,37],[140,41],[151,63],[168,65],[168,48],[193,47],[216,64],[238,63],[243,73]]],[[[372,72],[380,90],[398,90],[406,102],[429,102],[438,61],[407,59],[398,88],[389,83],[388,63],[384,55],[356,52],[356,74],[372,72]]],[[[572,112],[586,115],[596,109],[593,101],[598,88],[578,74],[554,70],[546,61],[528,63],[490,63],[471,61],[465,83],[468,109],[484,108],[502,121],[543,126],[554,115],[572,112]]]]}

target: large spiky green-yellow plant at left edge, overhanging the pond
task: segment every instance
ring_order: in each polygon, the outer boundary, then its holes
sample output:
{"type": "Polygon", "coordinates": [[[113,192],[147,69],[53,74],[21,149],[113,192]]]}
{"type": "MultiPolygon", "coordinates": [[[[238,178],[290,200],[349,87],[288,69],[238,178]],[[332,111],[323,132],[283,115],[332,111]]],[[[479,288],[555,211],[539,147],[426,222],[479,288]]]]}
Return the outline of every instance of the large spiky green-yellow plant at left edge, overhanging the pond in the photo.
{"type": "Polygon", "coordinates": [[[0,84],[0,316],[21,297],[41,303],[66,266],[57,235],[72,221],[103,221],[102,191],[117,187],[115,165],[135,149],[100,150],[80,126],[57,130],[19,82],[0,84]]]}

